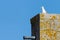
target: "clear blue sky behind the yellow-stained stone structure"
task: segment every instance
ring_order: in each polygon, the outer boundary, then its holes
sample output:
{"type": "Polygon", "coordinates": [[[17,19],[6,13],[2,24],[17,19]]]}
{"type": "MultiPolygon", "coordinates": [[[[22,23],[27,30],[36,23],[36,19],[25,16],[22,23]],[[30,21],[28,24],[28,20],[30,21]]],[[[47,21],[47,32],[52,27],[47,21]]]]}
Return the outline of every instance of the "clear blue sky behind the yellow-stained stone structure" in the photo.
{"type": "Polygon", "coordinates": [[[41,12],[60,13],[60,0],[0,0],[0,40],[31,36],[30,18],[41,12]]]}

